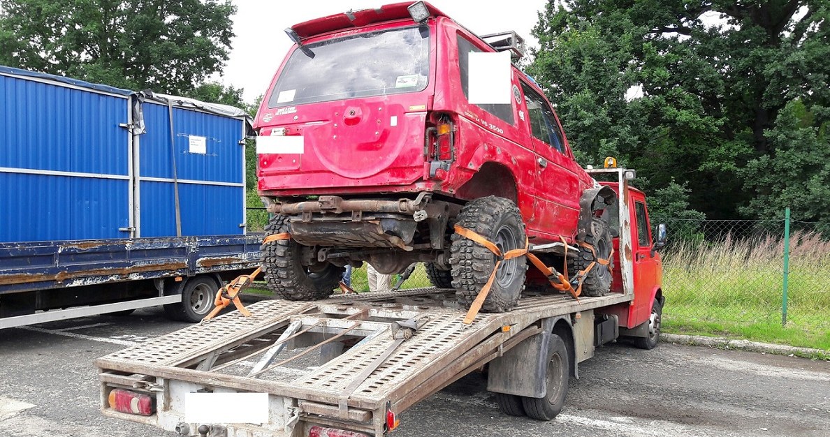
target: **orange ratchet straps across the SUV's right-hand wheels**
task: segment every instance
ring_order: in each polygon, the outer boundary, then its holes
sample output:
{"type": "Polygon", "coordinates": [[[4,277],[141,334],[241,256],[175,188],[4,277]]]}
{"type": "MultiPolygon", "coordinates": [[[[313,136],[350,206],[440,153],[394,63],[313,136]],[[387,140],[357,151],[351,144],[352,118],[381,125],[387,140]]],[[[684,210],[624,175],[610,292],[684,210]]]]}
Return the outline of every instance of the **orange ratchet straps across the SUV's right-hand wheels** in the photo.
{"type": "MultiPolygon", "coordinates": [[[[601,265],[610,265],[611,256],[608,257],[609,260],[600,260],[600,259],[597,258],[597,254],[593,250],[593,246],[588,245],[587,243],[580,243],[580,245],[583,245],[583,247],[587,247],[588,249],[591,250],[591,253],[593,254],[593,257],[594,257],[595,261],[591,262],[591,264],[589,264],[588,267],[586,267],[583,270],[580,270],[579,273],[577,273],[578,285],[577,285],[577,288],[574,289],[574,286],[571,285],[571,283],[569,282],[569,279],[568,279],[568,266],[567,266],[568,243],[565,241],[564,237],[562,237],[562,236],[560,236],[559,238],[562,239],[562,243],[565,246],[565,267],[564,267],[564,274],[559,274],[559,272],[557,272],[556,270],[551,269],[547,265],[544,265],[544,263],[542,262],[542,260],[539,259],[539,257],[537,257],[536,255],[533,255],[533,254],[530,253],[530,251],[529,251],[530,245],[528,244],[527,238],[525,238],[525,248],[524,249],[509,250],[507,253],[502,254],[501,250],[499,250],[499,248],[495,244],[493,244],[490,240],[487,240],[485,237],[477,234],[475,231],[471,231],[471,230],[466,229],[465,227],[462,227],[462,226],[459,226],[459,225],[455,226],[455,231],[458,235],[461,235],[466,239],[473,240],[476,243],[478,243],[480,245],[483,245],[484,247],[486,247],[488,250],[493,252],[493,254],[498,257],[498,259],[496,260],[496,265],[493,266],[493,271],[490,274],[490,278],[487,279],[487,283],[484,284],[484,287],[481,287],[481,291],[476,296],[476,299],[473,300],[473,303],[470,305],[470,309],[466,313],[466,317],[464,318],[464,324],[467,324],[467,325],[469,325],[470,323],[472,323],[473,320],[475,320],[476,315],[478,315],[478,312],[481,310],[481,305],[484,304],[485,299],[487,299],[487,294],[490,293],[490,289],[493,285],[493,280],[496,279],[496,271],[499,269],[499,265],[501,264],[501,261],[503,261],[503,260],[510,260],[511,258],[516,258],[516,257],[519,257],[521,255],[526,255],[528,257],[528,259],[530,259],[530,262],[536,267],[536,269],[539,269],[540,272],[542,272],[542,274],[544,274],[544,276],[548,278],[548,281],[550,282],[550,285],[552,287],[554,287],[554,289],[557,289],[557,290],[559,290],[559,292],[562,292],[562,293],[565,293],[565,292],[569,293],[571,296],[574,297],[574,299],[576,299],[577,302],[579,302],[579,294],[582,293],[582,282],[583,282],[583,279],[585,278],[585,274],[588,274],[588,272],[591,269],[593,269],[593,266],[596,265],[597,263],[599,263],[601,265]],[[554,280],[554,275],[555,275],[555,280],[554,280]]],[[[613,249],[611,251],[611,255],[613,255],[613,249]]]]}

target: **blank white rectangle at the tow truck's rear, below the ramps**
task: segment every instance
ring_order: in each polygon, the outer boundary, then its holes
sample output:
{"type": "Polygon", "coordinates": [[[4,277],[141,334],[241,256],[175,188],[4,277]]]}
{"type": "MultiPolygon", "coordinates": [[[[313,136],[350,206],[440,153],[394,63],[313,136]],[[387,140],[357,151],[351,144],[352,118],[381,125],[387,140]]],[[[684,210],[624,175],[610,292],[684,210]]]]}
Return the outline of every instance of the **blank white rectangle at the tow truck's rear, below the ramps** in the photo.
{"type": "Polygon", "coordinates": [[[186,393],[184,421],[212,424],[268,423],[268,394],[186,393]]]}

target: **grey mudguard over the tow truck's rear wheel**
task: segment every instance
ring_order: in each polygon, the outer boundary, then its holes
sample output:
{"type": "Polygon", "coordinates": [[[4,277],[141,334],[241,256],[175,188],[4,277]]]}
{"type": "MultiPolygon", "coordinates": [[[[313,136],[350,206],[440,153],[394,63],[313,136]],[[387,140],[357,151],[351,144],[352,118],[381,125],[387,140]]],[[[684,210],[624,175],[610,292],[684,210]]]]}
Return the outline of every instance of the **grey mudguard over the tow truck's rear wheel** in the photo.
{"type": "MultiPolygon", "coordinates": [[[[487,371],[487,391],[525,397],[544,397],[548,392],[550,335],[559,320],[565,320],[568,323],[566,317],[546,318],[542,321],[542,333],[520,342],[501,357],[491,361],[487,371]]],[[[573,333],[569,335],[573,336],[573,333]]],[[[563,339],[565,344],[574,344],[573,338],[563,339]]]]}

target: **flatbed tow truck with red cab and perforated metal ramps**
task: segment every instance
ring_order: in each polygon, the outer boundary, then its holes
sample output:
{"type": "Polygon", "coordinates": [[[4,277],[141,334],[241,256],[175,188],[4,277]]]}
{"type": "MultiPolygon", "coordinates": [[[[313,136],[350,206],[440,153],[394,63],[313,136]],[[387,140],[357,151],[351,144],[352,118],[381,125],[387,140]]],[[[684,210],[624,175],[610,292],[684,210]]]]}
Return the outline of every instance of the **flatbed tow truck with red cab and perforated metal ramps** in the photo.
{"type": "Polygon", "coordinates": [[[631,336],[651,348],[659,333],[655,250],[665,228],[652,244],[645,197],[627,187],[631,170],[589,172],[617,178],[601,182],[618,193],[617,267],[605,296],[529,287],[512,311],[479,313],[470,324],[452,289],[266,299],[247,307],[250,317],[234,311],[96,360],[102,412],[178,435],[382,436],[410,406],[486,368],[500,410],[553,419],[569,376],[579,376],[595,347],[631,336]],[[320,359],[310,365],[312,354],[320,359]],[[220,402],[218,395],[251,393],[266,394],[262,423],[188,420],[193,394],[220,402]]]}

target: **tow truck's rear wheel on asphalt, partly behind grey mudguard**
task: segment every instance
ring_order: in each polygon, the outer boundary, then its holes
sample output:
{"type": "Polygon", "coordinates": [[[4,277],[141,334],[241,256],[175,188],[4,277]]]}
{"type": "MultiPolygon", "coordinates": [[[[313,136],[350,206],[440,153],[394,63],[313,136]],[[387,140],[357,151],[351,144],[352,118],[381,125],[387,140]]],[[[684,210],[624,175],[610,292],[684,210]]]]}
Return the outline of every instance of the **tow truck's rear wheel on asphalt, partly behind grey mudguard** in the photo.
{"type": "Polygon", "coordinates": [[[568,393],[568,348],[562,337],[550,335],[550,359],[548,361],[548,392],[544,397],[522,397],[522,405],[528,417],[536,420],[553,420],[565,403],[568,393]]]}

